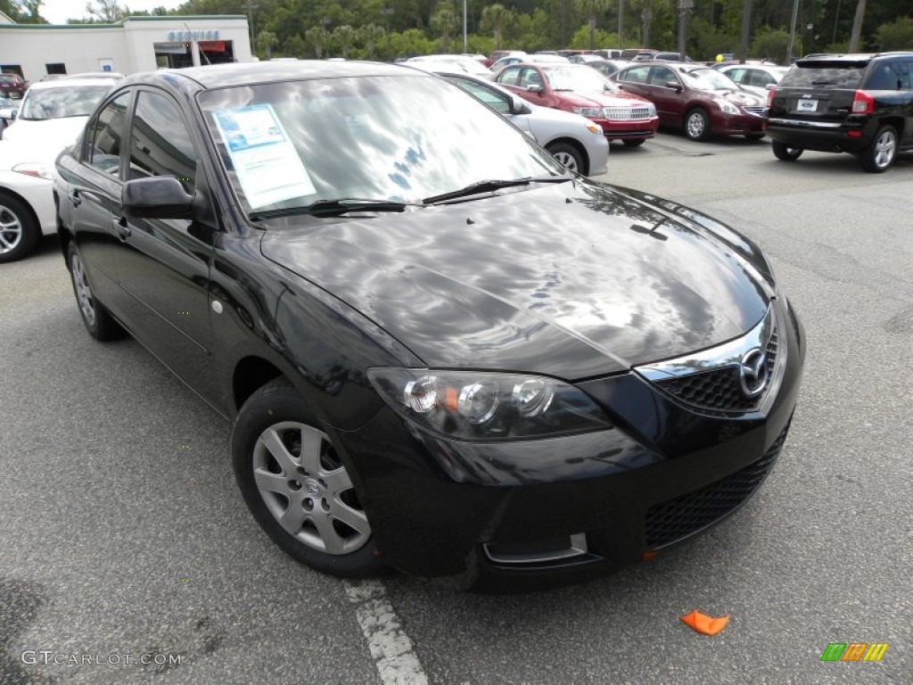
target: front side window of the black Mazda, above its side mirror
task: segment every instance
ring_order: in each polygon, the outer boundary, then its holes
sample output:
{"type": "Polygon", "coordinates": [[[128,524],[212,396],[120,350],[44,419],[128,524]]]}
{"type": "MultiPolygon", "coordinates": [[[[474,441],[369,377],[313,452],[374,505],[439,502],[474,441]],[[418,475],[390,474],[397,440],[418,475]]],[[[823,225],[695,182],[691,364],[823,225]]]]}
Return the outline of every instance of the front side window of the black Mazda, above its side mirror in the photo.
{"type": "Polygon", "coordinates": [[[136,99],[130,139],[130,178],[173,176],[193,194],[196,151],[172,100],[142,90],[136,99]]]}

